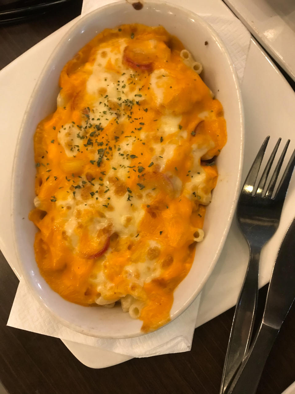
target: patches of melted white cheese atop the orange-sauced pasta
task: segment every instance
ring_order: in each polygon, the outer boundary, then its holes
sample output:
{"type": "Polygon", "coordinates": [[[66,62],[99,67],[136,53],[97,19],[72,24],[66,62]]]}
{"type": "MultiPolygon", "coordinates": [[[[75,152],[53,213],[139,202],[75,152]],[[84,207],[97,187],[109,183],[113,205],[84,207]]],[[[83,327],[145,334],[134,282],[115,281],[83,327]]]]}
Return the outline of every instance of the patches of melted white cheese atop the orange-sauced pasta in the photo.
{"type": "MultiPolygon", "coordinates": [[[[89,116],[85,116],[85,119],[79,127],[73,123],[67,123],[59,130],[58,141],[63,149],[65,149],[69,158],[75,156],[79,150],[82,151],[86,148],[92,149],[90,145],[89,147],[84,146],[85,143],[87,144],[87,139],[83,138],[84,130],[89,127],[92,118],[95,119],[95,123],[100,122],[102,128],[105,128],[111,120],[116,121],[117,118],[120,123],[127,122],[129,119],[127,119],[127,115],[124,112],[121,113],[120,109],[122,107],[120,104],[122,104],[124,100],[127,102],[128,100],[135,102],[144,99],[143,97],[136,96],[139,95],[139,90],[134,90],[133,85],[127,84],[127,80],[132,74],[133,80],[137,77],[134,71],[130,70],[122,63],[122,53],[126,45],[125,39],[118,40],[118,44],[118,47],[115,49],[112,46],[103,48],[96,56],[92,74],[87,81],[87,94],[90,95],[90,102],[93,102],[89,116]],[[105,56],[105,53],[107,56],[105,56]],[[102,54],[103,56],[101,56],[102,54]],[[107,62],[109,61],[111,61],[118,72],[106,69],[107,62]]],[[[169,85],[169,75],[165,70],[155,70],[151,73],[150,84],[156,98],[156,104],[160,106],[163,102],[164,91],[167,88],[167,84],[169,85]]],[[[136,86],[138,85],[136,84],[136,86]]],[[[58,102],[60,105],[63,105],[63,100],[61,100],[60,96],[58,102]]],[[[206,111],[199,114],[201,119],[205,119],[207,116],[208,112],[206,111]]],[[[208,195],[203,190],[203,186],[206,182],[206,174],[200,165],[200,159],[212,145],[210,147],[197,146],[196,144],[192,145],[191,154],[194,157],[194,164],[185,184],[183,184],[176,175],[165,171],[165,166],[175,154],[175,149],[179,146],[181,141],[188,136],[187,130],[181,130],[181,128],[179,128],[181,118],[181,116],[172,114],[165,114],[159,117],[157,127],[159,128],[159,134],[162,136],[163,141],[162,143],[159,141],[153,144],[154,151],[152,161],[154,164],[159,165],[160,171],[170,180],[176,195],[184,193],[184,195],[190,199],[195,199],[194,196],[197,196],[199,202],[208,204],[211,199],[211,193],[208,195]],[[177,132],[177,136],[170,139],[169,136],[175,132],[177,132]],[[166,138],[167,140],[165,141],[166,138]]],[[[137,137],[146,138],[146,132],[144,130],[138,131],[137,137]]],[[[109,154],[108,157],[111,170],[110,173],[107,174],[108,176],[117,177],[118,180],[122,181],[125,180],[128,175],[126,167],[131,165],[129,156],[131,154],[133,141],[134,136],[124,138],[124,141],[120,141],[118,145],[116,145],[116,150],[113,150],[111,154],[109,154]],[[112,167],[116,170],[112,170],[112,167]],[[112,171],[114,171],[114,173],[112,173],[112,171]]],[[[94,158],[98,160],[100,154],[96,152],[97,148],[93,153],[95,155],[94,158]]],[[[93,180],[93,184],[94,190],[107,190],[107,193],[98,193],[94,196],[91,196],[89,193],[89,197],[85,199],[85,196],[82,198],[81,195],[81,191],[83,191],[83,185],[81,185],[81,189],[75,190],[75,197],[73,197],[72,193],[69,193],[68,200],[59,202],[59,204],[63,206],[70,204],[72,207],[67,213],[65,231],[73,247],[79,242],[76,233],[77,226],[79,225],[79,220],[76,218],[77,210],[89,209],[91,211],[97,206],[98,200],[100,206],[101,204],[111,204],[113,209],[105,209],[103,211],[104,217],[93,217],[86,223],[90,236],[96,237],[98,230],[111,225],[112,232],[116,232],[120,237],[135,237],[139,223],[144,215],[142,206],[143,204],[148,204],[156,192],[145,188],[144,190],[140,190],[140,197],[136,197],[135,193],[132,191],[131,204],[129,191],[126,190],[124,195],[118,196],[115,194],[115,188],[109,184],[107,177],[105,177],[103,186],[101,186],[100,181],[97,179],[93,180]],[[108,197],[110,199],[108,199],[108,197]],[[96,200],[96,198],[98,198],[98,200],[96,200]]],[[[160,247],[160,245],[153,240],[149,241],[149,245],[150,247],[160,247]]],[[[92,280],[97,283],[97,290],[103,297],[107,297],[114,289],[114,285],[109,282],[105,276],[104,260],[107,261],[109,253],[111,252],[107,251],[104,256],[98,258],[96,277],[92,278],[92,280]]],[[[130,282],[142,286],[145,282],[159,277],[160,271],[159,262],[156,263],[155,260],[151,261],[146,259],[140,262],[131,262],[129,265],[125,266],[123,275],[125,275],[130,282]]]]}

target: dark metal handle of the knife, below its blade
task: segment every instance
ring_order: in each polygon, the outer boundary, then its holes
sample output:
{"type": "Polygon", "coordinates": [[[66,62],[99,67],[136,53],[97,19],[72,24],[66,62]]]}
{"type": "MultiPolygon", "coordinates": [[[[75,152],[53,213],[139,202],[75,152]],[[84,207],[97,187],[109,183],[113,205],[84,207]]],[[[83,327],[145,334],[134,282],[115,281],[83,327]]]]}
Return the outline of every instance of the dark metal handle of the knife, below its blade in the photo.
{"type": "Polygon", "coordinates": [[[229,394],[255,394],[279,329],[261,323],[254,342],[234,378],[229,394]]]}

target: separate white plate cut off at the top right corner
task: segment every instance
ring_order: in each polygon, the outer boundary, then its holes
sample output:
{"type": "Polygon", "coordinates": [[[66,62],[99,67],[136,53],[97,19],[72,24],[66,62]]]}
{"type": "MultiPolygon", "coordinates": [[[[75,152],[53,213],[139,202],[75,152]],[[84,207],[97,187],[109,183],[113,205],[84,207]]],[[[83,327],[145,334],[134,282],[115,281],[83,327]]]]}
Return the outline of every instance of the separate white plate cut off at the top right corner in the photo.
{"type": "Polygon", "coordinates": [[[295,80],[294,0],[225,0],[225,3],[295,80]]]}

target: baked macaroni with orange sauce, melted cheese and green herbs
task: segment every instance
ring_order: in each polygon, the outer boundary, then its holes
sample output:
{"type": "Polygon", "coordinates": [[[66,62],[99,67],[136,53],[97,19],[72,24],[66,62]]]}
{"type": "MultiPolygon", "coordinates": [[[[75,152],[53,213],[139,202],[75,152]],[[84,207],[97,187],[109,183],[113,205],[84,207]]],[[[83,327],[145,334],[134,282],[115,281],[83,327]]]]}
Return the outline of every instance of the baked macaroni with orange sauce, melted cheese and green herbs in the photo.
{"type": "Polygon", "coordinates": [[[142,331],[170,319],[227,138],[201,70],[161,26],[103,30],[66,63],[35,132],[42,276],[73,303],[121,306],[142,331]]]}

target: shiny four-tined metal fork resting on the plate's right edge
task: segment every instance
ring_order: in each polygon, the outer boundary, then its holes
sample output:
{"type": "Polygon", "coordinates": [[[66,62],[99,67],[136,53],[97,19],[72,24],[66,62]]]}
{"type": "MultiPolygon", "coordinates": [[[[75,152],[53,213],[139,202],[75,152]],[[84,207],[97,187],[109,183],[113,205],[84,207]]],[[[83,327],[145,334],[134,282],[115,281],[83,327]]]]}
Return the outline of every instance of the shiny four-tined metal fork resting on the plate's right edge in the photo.
{"type": "Polygon", "coordinates": [[[281,138],[279,138],[265,166],[258,186],[254,188],[268,141],[269,136],[265,138],[252,164],[238,201],[237,219],[240,229],[248,242],[250,258],[230,331],[220,394],[227,393],[249,349],[253,323],[256,316],[260,252],[264,244],[275,234],[278,228],[282,207],[295,165],[294,151],[277,191],[274,193],[278,175],[290,142],[288,139],[278,159],[273,175],[267,184],[267,178],[278,146],[280,145],[281,138]]]}

